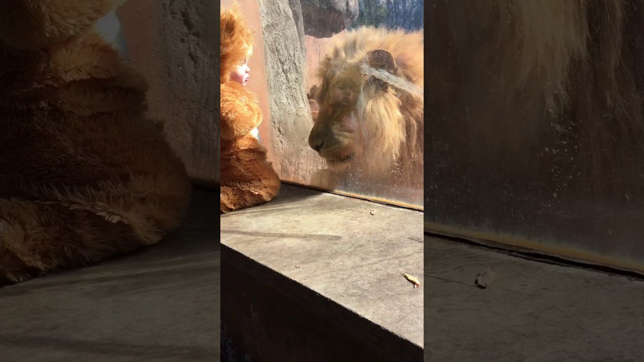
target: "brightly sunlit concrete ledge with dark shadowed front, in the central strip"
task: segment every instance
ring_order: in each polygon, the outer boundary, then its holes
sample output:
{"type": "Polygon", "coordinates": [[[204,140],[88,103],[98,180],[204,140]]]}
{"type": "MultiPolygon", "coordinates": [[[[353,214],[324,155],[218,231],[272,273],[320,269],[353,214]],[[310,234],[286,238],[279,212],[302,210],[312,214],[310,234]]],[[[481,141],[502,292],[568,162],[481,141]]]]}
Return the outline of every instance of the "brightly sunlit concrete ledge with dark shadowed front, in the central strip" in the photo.
{"type": "Polygon", "coordinates": [[[221,237],[224,361],[422,360],[422,213],[283,185],[221,237]]]}

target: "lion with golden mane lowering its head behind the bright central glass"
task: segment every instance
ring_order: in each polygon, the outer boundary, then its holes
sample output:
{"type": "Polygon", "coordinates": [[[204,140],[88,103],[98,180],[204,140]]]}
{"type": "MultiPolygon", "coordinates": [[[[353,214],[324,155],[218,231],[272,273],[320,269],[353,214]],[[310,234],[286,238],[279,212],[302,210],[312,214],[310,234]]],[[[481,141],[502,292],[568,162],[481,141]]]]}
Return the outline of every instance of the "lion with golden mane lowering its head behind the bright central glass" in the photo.
{"type": "MultiPolygon", "coordinates": [[[[364,27],[332,43],[317,69],[317,97],[310,101],[314,125],[308,144],[328,166],[314,174],[313,184],[334,189],[350,180],[362,193],[386,196],[422,190],[422,95],[365,69],[386,71],[422,90],[423,61],[422,32],[364,27]]],[[[422,196],[410,201],[422,203],[422,196]]]]}

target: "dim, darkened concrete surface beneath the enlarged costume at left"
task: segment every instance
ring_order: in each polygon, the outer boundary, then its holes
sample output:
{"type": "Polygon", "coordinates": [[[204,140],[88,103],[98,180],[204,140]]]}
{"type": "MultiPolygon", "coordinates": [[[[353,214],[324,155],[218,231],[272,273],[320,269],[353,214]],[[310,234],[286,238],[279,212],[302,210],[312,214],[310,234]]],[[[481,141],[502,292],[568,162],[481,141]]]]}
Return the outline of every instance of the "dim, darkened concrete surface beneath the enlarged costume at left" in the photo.
{"type": "Polygon", "coordinates": [[[217,361],[218,195],[144,251],[0,289],[2,362],[217,361]]]}

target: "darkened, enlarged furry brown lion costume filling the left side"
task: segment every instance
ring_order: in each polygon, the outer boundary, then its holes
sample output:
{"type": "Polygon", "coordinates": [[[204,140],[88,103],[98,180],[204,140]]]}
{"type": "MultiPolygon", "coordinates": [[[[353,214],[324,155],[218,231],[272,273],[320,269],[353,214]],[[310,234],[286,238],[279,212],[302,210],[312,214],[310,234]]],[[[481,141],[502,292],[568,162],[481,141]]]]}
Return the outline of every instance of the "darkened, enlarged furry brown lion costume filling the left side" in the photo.
{"type": "Polygon", "coordinates": [[[122,3],[0,2],[0,283],[154,244],[184,216],[146,83],[92,28],[122,3]]]}

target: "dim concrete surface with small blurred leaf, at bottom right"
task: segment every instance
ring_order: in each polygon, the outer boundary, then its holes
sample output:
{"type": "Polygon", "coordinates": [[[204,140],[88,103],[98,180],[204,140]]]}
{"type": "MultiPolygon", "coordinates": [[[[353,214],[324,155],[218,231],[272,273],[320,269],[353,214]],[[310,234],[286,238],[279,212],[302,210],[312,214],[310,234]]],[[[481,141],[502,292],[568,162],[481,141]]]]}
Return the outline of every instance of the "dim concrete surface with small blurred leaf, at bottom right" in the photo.
{"type": "Polygon", "coordinates": [[[424,254],[425,361],[644,361],[643,281],[430,236],[424,254]]]}

